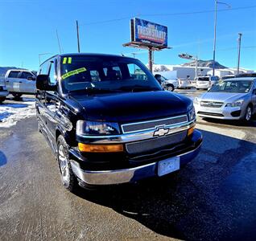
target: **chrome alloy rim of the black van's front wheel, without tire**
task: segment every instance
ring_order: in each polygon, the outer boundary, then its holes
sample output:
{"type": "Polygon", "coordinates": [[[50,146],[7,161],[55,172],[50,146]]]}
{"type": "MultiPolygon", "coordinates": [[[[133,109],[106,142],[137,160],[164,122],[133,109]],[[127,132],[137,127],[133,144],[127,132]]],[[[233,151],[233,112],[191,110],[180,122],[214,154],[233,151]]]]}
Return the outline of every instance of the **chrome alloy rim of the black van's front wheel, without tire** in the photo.
{"type": "Polygon", "coordinates": [[[63,145],[59,146],[58,159],[59,159],[60,175],[62,178],[62,182],[64,182],[64,185],[67,185],[69,182],[70,173],[69,173],[68,158],[66,157],[63,145]]]}

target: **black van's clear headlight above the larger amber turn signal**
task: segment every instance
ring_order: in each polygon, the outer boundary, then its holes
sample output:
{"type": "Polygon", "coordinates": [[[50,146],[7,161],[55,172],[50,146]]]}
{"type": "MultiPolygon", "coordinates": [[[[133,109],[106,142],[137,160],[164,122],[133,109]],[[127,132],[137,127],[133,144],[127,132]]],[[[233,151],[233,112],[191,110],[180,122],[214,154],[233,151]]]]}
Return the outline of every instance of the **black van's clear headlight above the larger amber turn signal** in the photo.
{"type": "Polygon", "coordinates": [[[78,135],[116,135],[120,133],[118,123],[101,122],[101,121],[85,121],[78,120],[76,122],[76,134],[78,135]]]}

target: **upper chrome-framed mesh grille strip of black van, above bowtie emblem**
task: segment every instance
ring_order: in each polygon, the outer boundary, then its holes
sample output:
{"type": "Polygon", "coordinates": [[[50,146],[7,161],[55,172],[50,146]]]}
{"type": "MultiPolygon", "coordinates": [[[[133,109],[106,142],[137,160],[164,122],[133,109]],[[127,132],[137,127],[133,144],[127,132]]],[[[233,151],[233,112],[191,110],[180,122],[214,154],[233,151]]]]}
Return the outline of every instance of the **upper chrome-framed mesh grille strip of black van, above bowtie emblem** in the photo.
{"type": "Polygon", "coordinates": [[[159,126],[170,127],[188,122],[188,116],[174,116],[159,120],[147,120],[142,122],[122,125],[122,133],[136,133],[156,129],[159,126]]]}

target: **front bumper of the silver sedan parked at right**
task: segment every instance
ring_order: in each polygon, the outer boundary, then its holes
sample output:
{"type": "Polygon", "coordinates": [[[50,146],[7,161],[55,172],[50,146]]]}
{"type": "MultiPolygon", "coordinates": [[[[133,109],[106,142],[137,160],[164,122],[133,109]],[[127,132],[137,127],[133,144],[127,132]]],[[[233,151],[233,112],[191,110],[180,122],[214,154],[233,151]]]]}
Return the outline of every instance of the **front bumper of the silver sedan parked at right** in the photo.
{"type": "Polygon", "coordinates": [[[240,120],[245,115],[245,109],[239,107],[221,107],[209,108],[194,104],[196,115],[200,117],[209,117],[221,120],[240,120]]]}

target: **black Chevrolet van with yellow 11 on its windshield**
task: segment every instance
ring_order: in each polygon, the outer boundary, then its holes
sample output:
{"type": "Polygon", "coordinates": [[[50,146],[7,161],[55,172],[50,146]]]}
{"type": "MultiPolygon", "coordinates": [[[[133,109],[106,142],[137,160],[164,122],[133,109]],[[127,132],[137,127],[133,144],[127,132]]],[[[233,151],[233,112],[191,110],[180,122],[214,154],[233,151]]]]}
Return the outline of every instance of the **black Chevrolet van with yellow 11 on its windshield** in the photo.
{"type": "Polygon", "coordinates": [[[56,55],[40,66],[36,87],[39,132],[68,190],[163,176],[199,153],[192,100],[163,91],[138,59],[56,55]]]}

